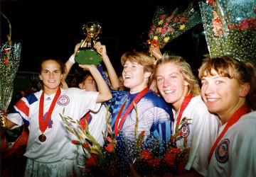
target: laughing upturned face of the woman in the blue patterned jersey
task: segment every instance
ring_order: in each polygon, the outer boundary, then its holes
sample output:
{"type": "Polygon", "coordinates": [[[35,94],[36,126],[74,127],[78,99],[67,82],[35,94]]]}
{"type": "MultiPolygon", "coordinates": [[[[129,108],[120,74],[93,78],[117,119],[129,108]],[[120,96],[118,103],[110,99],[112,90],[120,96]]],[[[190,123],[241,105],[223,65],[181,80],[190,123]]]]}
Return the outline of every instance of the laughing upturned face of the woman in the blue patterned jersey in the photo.
{"type": "Polygon", "coordinates": [[[124,63],[122,77],[124,86],[130,89],[131,93],[142,91],[147,84],[147,78],[151,75],[150,72],[144,72],[143,66],[137,62],[124,63]]]}

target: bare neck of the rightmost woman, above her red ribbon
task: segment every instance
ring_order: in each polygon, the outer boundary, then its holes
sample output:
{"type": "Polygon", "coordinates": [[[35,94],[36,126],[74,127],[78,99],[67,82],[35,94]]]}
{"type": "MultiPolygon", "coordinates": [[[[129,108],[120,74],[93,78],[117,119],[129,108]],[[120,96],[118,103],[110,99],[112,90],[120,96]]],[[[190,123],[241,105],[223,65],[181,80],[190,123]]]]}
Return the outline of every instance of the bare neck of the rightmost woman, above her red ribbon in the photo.
{"type": "Polygon", "coordinates": [[[230,120],[230,118],[232,118],[232,116],[235,114],[235,111],[241,108],[242,105],[245,105],[245,100],[240,101],[235,105],[235,107],[225,110],[223,113],[218,113],[221,124],[224,125],[226,122],[228,122],[228,120],[230,120]]]}

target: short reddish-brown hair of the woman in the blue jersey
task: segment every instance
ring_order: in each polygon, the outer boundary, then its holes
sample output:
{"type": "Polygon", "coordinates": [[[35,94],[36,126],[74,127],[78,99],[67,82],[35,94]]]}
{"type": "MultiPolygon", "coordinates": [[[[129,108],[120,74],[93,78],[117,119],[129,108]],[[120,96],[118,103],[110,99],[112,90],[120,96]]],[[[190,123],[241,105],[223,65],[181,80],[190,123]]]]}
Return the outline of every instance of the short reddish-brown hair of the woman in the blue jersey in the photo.
{"type": "Polygon", "coordinates": [[[151,72],[147,86],[151,85],[152,74],[154,74],[154,58],[151,57],[148,53],[142,51],[129,51],[125,52],[121,57],[121,64],[124,66],[125,62],[137,62],[143,66],[144,72],[151,72]]]}

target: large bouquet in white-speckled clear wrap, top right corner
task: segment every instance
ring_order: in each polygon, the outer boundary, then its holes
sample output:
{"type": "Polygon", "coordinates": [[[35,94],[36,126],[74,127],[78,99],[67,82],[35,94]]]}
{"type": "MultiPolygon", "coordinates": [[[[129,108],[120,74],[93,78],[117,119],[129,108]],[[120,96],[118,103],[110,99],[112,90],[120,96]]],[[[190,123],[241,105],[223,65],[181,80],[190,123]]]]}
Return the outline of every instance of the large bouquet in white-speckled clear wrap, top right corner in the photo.
{"type": "Polygon", "coordinates": [[[256,64],[256,2],[208,0],[199,5],[210,58],[230,55],[256,64]]]}

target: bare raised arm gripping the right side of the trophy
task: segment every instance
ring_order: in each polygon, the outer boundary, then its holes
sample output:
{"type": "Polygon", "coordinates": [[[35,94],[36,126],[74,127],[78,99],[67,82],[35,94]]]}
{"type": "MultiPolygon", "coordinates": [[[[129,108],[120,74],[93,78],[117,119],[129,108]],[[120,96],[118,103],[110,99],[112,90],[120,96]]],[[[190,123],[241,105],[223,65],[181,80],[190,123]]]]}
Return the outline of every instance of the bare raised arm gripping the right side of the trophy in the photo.
{"type": "Polygon", "coordinates": [[[97,52],[100,53],[100,55],[102,55],[102,61],[104,62],[107,68],[107,72],[110,76],[112,89],[114,90],[119,89],[119,79],[117,77],[117,73],[114,70],[114,67],[110,62],[110,58],[107,56],[106,46],[102,45],[100,42],[96,42],[95,49],[97,50],[97,52]]]}

